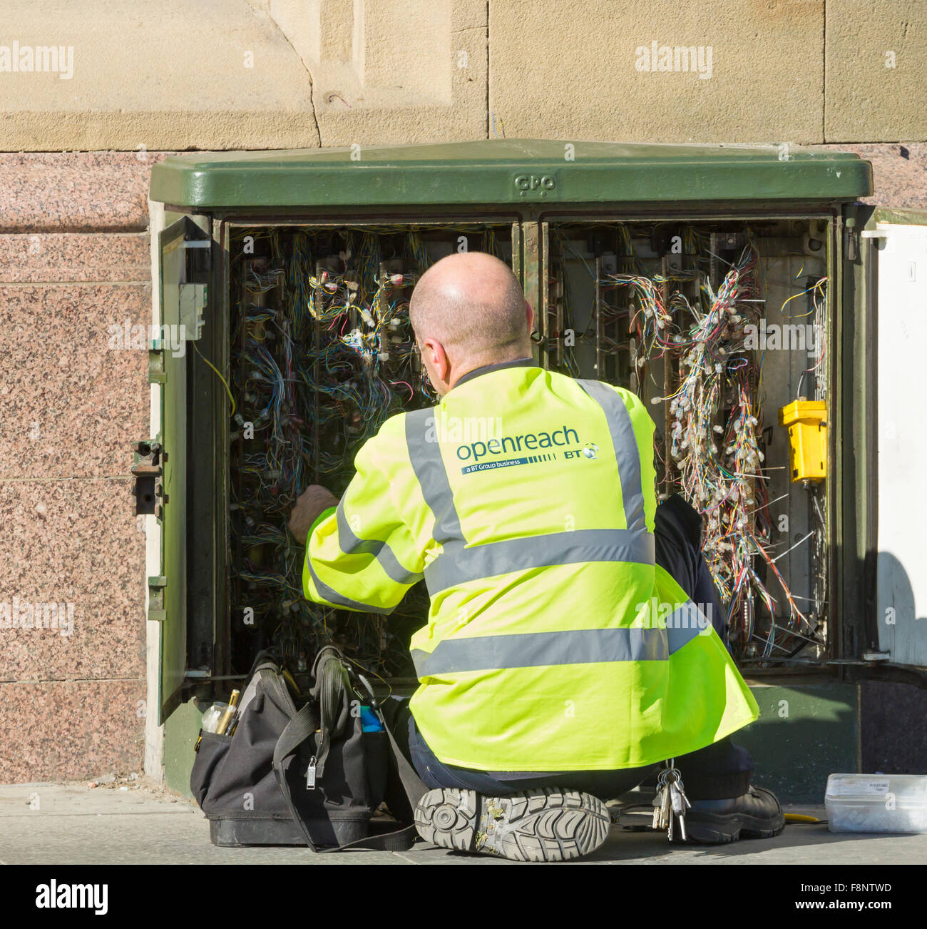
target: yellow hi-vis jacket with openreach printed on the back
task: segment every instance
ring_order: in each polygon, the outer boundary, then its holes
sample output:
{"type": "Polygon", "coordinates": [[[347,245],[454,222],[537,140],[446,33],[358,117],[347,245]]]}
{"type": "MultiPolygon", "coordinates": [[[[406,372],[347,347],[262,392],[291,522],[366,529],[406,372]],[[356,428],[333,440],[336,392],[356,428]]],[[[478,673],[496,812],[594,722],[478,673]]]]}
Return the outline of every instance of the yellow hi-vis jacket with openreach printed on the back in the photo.
{"type": "Polygon", "coordinates": [[[654,564],[653,432],[629,391],[521,360],[358,452],[309,532],[305,593],[388,613],[424,576],[411,710],[442,762],[635,767],[757,718],[711,622],[654,564]]]}

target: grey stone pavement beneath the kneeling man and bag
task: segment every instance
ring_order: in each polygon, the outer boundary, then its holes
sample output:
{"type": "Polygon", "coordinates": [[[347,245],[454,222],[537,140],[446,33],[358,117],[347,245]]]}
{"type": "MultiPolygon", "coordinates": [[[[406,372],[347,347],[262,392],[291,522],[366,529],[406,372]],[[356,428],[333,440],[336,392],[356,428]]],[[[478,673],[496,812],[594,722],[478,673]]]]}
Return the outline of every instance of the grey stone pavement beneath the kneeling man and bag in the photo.
{"type": "MultiPolygon", "coordinates": [[[[627,795],[626,795],[627,797],[627,795]]],[[[824,818],[823,807],[787,812],[824,818]]],[[[775,839],[715,846],[671,845],[665,834],[627,831],[643,822],[622,813],[607,843],[577,864],[912,864],[927,862],[927,834],[835,833],[790,824],[775,839]]],[[[190,800],[144,778],[0,786],[0,863],[4,864],[437,864],[515,862],[416,844],[407,852],[315,855],[307,848],[216,848],[209,823],[190,800]]]]}

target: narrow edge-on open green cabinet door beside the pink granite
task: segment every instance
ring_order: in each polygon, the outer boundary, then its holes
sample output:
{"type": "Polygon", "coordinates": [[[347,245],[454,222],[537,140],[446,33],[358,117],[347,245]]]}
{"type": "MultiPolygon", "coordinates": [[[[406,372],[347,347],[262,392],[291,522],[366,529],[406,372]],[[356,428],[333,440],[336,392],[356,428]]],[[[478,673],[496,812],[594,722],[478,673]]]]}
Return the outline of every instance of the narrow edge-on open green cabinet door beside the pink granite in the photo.
{"type": "MultiPolygon", "coordinates": [[[[203,225],[209,228],[205,220],[203,225]]],[[[153,347],[151,371],[152,380],[161,384],[163,478],[154,509],[162,523],[161,576],[150,578],[149,585],[150,603],[161,607],[160,725],[173,712],[187,672],[189,355],[202,328],[202,272],[209,268],[211,241],[185,216],[159,233],[158,245],[162,328],[153,347]]]]}

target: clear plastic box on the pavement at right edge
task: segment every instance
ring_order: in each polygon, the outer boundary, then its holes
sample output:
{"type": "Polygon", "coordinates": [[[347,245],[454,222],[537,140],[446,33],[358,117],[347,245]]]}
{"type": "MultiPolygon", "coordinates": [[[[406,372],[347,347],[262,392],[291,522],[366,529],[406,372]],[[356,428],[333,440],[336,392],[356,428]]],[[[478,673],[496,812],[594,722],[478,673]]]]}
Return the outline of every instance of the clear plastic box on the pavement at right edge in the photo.
{"type": "Polygon", "coordinates": [[[831,774],[831,832],[927,832],[927,775],[831,774]]]}

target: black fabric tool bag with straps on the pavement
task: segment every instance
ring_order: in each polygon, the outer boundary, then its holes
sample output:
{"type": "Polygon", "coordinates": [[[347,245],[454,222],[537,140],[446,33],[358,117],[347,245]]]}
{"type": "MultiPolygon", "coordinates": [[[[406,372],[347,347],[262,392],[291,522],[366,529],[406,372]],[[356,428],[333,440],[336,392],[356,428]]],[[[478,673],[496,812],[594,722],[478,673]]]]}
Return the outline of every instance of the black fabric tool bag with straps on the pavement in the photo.
{"type": "Polygon", "coordinates": [[[399,752],[366,680],[337,648],[322,648],[307,700],[296,706],[280,666],[255,662],[231,736],[201,732],[190,790],[216,845],[308,845],[313,851],[401,850],[415,839],[411,810],[425,791],[399,752]],[[364,732],[361,701],[384,722],[364,732]],[[385,794],[403,828],[371,835],[385,794]]]}

